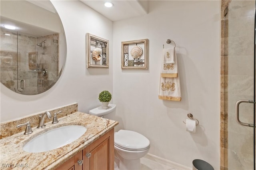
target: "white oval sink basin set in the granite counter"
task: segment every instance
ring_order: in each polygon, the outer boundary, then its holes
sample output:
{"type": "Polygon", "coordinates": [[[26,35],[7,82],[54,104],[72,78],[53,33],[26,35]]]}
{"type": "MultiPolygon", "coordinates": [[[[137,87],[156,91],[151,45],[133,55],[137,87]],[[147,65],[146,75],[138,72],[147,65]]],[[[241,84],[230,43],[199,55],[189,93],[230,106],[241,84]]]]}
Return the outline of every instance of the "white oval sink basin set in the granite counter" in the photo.
{"type": "Polygon", "coordinates": [[[86,127],[78,125],[55,128],[30,140],[23,146],[23,150],[38,153],[60,148],[80,138],[86,130],[86,127]]]}

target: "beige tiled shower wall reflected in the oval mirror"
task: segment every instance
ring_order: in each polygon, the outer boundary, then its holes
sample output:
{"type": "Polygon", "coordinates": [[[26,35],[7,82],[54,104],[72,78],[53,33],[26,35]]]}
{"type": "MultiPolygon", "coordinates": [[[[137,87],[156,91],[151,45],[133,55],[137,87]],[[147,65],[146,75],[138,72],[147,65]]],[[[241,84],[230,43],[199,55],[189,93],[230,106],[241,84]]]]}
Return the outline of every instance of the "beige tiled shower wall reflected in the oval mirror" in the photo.
{"type": "Polygon", "coordinates": [[[38,38],[18,34],[17,39],[17,33],[1,29],[1,82],[13,91],[26,94],[50,88],[58,76],[58,43],[53,40],[58,40],[58,34],[38,38]],[[44,40],[42,47],[36,46],[44,40]],[[47,68],[47,76],[35,71],[43,68],[47,68]],[[20,80],[26,81],[24,90],[20,89],[20,80]]]}

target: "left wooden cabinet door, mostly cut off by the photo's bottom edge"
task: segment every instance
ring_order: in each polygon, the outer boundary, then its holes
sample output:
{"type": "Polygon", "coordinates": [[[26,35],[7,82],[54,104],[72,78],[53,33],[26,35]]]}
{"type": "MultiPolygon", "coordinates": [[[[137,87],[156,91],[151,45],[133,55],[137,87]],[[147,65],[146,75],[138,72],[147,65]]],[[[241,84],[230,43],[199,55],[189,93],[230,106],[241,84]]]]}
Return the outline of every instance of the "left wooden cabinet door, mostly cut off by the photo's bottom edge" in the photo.
{"type": "Polygon", "coordinates": [[[55,170],[82,170],[83,166],[78,164],[78,160],[83,160],[82,150],[55,170]]]}

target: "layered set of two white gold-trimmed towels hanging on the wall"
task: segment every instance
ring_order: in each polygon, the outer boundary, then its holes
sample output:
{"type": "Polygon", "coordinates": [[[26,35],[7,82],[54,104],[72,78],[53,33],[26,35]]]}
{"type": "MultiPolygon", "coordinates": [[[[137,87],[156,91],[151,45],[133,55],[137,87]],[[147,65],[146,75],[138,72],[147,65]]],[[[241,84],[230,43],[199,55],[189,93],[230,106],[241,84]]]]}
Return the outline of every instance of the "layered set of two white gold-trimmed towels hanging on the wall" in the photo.
{"type": "Polygon", "coordinates": [[[158,98],[163,100],[181,101],[180,77],[178,76],[178,63],[174,48],[163,50],[158,98]],[[173,62],[171,60],[166,60],[167,52],[172,54],[173,62]],[[168,64],[173,64],[170,65],[170,68],[173,69],[165,69],[168,64]]]}

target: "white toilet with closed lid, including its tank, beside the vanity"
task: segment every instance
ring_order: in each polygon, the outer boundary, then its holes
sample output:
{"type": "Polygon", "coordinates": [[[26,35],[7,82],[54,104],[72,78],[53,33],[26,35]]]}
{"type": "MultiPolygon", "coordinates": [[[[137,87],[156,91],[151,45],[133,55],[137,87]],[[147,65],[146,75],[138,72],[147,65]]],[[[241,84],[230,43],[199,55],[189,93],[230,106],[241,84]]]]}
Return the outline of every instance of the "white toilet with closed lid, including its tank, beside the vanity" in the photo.
{"type": "MultiPolygon", "coordinates": [[[[116,105],[108,106],[108,109],[102,109],[101,106],[94,108],[89,114],[115,120],[116,105]]],[[[138,132],[119,130],[114,136],[114,148],[115,163],[120,170],[140,170],[140,158],[148,153],[150,141],[138,132]]]]}

